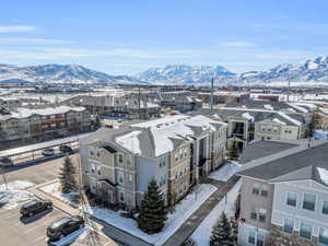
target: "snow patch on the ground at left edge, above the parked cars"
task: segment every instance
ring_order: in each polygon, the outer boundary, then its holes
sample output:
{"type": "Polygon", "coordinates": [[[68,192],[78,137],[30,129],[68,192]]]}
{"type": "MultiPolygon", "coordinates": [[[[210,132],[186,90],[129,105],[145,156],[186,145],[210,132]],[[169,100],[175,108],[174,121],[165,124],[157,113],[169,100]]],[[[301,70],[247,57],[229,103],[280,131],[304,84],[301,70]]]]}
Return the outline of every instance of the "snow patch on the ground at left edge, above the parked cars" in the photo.
{"type": "Polygon", "coordinates": [[[0,206],[1,209],[13,209],[27,200],[34,198],[34,195],[26,191],[25,189],[34,186],[31,181],[16,180],[8,184],[8,189],[4,184],[0,185],[0,206]]]}

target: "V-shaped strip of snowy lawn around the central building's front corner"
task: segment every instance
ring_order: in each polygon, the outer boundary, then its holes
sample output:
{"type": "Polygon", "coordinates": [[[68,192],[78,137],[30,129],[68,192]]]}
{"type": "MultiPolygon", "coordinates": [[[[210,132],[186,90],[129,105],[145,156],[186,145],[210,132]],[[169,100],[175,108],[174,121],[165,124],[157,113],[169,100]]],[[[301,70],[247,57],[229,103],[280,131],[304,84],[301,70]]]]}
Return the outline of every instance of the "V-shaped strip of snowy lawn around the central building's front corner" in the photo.
{"type": "Polygon", "coordinates": [[[108,224],[157,246],[164,244],[215,190],[216,187],[212,185],[199,185],[192,194],[188,195],[176,204],[173,213],[167,215],[167,221],[163,231],[152,235],[140,231],[134,220],[120,216],[120,211],[115,212],[96,207],[89,207],[85,211],[108,224]]]}

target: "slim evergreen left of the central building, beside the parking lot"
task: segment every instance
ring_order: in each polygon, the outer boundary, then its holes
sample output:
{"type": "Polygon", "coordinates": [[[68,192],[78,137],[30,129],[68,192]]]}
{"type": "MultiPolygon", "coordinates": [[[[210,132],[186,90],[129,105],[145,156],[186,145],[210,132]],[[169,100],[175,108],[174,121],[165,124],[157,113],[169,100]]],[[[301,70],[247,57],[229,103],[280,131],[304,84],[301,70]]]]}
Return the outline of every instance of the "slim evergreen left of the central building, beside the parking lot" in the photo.
{"type": "Polygon", "coordinates": [[[66,156],[63,160],[62,167],[60,167],[59,180],[61,184],[61,191],[63,194],[69,194],[77,190],[78,184],[75,180],[75,167],[71,162],[69,156],[66,156]]]}

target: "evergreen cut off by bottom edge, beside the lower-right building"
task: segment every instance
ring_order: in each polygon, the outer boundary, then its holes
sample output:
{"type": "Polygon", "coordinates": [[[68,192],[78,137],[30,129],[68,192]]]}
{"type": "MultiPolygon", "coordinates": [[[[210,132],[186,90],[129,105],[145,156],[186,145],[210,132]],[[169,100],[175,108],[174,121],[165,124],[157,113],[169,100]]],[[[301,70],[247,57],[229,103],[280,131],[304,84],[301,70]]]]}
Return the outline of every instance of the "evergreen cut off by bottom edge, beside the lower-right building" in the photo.
{"type": "Polygon", "coordinates": [[[219,221],[213,226],[210,246],[234,246],[231,224],[224,212],[221,213],[219,221]]]}

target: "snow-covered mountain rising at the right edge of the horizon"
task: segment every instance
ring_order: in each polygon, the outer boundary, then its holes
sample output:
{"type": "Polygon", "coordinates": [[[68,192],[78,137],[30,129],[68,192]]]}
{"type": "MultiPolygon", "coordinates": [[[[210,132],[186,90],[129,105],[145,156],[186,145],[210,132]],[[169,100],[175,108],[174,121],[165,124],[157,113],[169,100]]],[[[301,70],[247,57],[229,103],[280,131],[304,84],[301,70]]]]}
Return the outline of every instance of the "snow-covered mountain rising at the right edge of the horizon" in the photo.
{"type": "Polygon", "coordinates": [[[328,82],[328,57],[317,57],[305,62],[277,66],[268,71],[250,71],[239,74],[239,81],[253,82],[328,82]]]}

